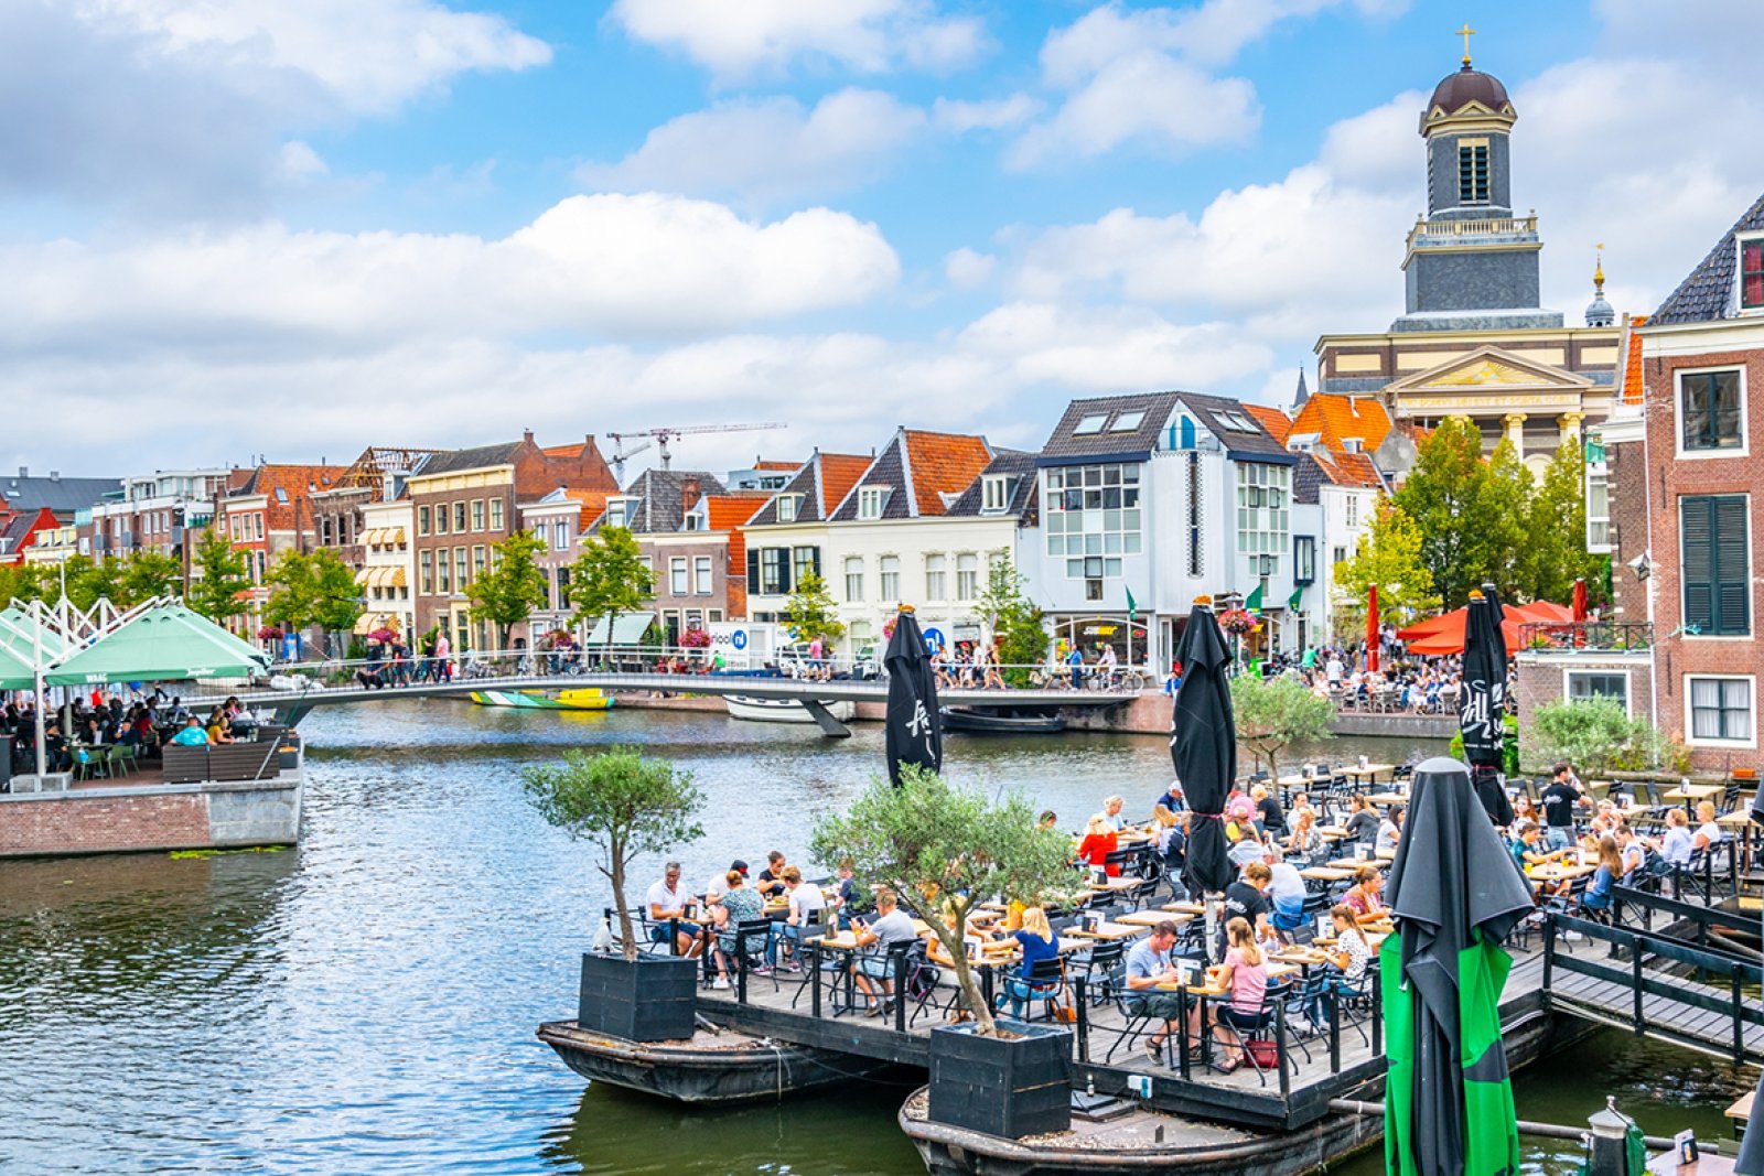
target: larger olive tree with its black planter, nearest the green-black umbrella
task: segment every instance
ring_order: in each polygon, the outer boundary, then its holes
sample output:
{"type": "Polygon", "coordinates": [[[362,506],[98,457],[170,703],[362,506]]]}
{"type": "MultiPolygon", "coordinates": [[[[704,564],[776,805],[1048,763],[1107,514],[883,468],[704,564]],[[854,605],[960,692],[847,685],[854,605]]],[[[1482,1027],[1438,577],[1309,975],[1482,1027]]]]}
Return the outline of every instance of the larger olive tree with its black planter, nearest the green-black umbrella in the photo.
{"type": "Polygon", "coordinates": [[[1071,1033],[995,1021],[968,959],[967,929],[995,894],[1039,903],[1076,890],[1071,837],[1043,829],[1021,793],[993,802],[907,765],[898,788],[877,778],[845,815],[822,820],[813,852],[822,862],[848,857],[859,878],[893,887],[954,964],[974,1019],[931,1033],[931,1120],[1004,1137],[1065,1130],[1071,1033]]]}

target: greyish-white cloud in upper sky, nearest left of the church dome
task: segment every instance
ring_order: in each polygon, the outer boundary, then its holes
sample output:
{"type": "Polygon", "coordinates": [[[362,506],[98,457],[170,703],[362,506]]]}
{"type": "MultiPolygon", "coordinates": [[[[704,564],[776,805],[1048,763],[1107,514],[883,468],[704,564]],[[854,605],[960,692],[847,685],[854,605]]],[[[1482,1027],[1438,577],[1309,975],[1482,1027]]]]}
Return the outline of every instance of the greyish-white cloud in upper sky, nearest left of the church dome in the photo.
{"type": "Polygon", "coordinates": [[[1071,155],[1094,157],[1134,141],[1159,153],[1235,143],[1261,122],[1256,88],[1212,78],[1164,53],[1117,56],[1046,122],[1018,139],[1007,162],[1032,167],[1071,155]]]}

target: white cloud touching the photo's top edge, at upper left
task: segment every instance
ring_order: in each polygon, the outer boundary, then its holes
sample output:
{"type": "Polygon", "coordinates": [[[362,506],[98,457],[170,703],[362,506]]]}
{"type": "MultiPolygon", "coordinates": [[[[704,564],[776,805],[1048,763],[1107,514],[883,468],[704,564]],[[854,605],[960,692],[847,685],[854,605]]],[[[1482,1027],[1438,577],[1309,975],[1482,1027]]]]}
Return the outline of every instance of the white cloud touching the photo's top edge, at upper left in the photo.
{"type": "Polygon", "coordinates": [[[467,71],[529,69],[550,48],[501,16],[432,0],[85,0],[99,30],[146,33],[168,56],[254,85],[289,71],[349,111],[383,113],[467,71]]]}

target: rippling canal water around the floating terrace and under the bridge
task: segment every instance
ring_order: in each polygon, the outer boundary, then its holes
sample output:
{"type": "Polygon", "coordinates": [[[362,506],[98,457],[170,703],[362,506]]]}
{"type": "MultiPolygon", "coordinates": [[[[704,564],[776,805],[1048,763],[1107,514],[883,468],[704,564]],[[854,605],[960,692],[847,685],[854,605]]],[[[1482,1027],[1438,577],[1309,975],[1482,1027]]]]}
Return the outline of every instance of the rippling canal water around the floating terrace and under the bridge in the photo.
{"type": "MultiPolygon", "coordinates": [[[[303,730],[298,850],[0,864],[0,1172],[924,1171],[900,1090],[684,1111],[589,1090],[533,1037],[572,1016],[607,890],[524,802],[520,765],[619,741],[677,760],[709,797],[707,836],[677,853],[702,885],[736,857],[801,860],[880,770],[877,726],[829,741],[702,712],[397,702],[303,730]]],[[[1325,755],[1360,751],[1438,748],[1325,755]]],[[[1147,809],[1170,758],[1148,737],[953,737],[947,769],[1078,825],[1111,792],[1147,809]]],[[[1521,1114],[1579,1123],[1616,1093],[1651,1132],[1718,1134],[1739,1081],[1611,1035],[1521,1077],[1521,1114]]],[[[1568,1172],[1572,1153],[1531,1151],[1528,1171],[1568,1172]]]]}

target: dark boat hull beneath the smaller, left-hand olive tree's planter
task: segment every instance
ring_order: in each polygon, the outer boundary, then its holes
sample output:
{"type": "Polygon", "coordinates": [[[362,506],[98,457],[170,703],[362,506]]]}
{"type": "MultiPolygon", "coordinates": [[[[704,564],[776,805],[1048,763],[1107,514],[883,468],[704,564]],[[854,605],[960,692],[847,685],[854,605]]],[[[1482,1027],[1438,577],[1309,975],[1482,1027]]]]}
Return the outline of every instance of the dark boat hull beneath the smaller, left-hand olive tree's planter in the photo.
{"type": "Polygon", "coordinates": [[[854,1077],[877,1079],[894,1070],[903,1084],[910,1081],[908,1070],[889,1061],[789,1042],[762,1042],[734,1030],[699,1030],[691,1040],[683,1042],[628,1042],[587,1033],[575,1021],[550,1021],[540,1026],[538,1035],[591,1083],[700,1105],[776,1098],[785,1091],[834,1086],[854,1077]]]}

